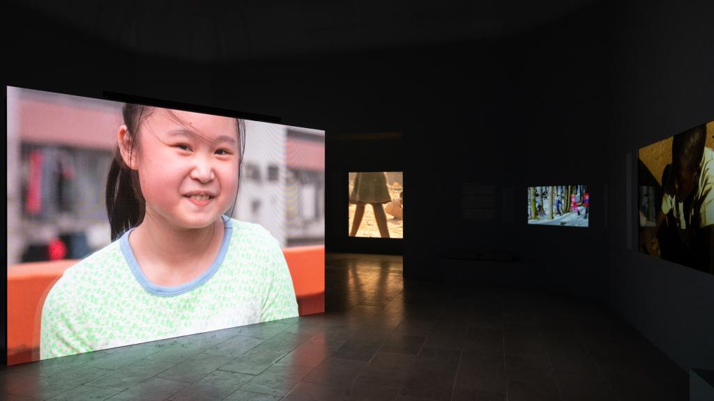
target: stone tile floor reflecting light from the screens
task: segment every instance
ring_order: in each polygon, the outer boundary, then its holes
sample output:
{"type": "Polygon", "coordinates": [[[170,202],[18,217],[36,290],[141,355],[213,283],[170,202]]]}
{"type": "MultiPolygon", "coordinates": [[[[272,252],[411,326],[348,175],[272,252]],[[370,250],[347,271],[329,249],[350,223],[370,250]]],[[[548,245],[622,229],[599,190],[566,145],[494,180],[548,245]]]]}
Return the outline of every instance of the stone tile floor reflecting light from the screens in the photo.
{"type": "Polygon", "coordinates": [[[403,283],[328,255],[328,313],[33,362],[6,400],[686,400],[688,377],[570,296],[403,283]]]}

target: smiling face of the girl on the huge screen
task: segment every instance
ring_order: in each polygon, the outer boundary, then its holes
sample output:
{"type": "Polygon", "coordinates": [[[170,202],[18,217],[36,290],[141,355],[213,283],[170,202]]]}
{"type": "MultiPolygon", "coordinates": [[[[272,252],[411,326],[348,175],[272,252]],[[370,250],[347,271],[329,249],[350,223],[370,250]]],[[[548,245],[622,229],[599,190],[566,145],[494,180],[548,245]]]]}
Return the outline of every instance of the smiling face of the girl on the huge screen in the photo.
{"type": "Polygon", "coordinates": [[[165,220],[176,228],[215,223],[238,190],[236,120],[156,108],[139,131],[136,168],[145,219],[165,220]]]}

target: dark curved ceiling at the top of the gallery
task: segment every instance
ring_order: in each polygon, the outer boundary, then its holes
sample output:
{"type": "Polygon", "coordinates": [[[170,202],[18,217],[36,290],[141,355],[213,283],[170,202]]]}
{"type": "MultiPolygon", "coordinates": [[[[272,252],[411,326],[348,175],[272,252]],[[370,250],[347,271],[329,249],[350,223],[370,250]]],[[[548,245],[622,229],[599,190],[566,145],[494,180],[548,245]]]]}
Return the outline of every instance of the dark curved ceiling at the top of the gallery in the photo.
{"type": "Polygon", "coordinates": [[[511,36],[592,1],[30,0],[21,7],[132,51],[211,62],[511,36]]]}

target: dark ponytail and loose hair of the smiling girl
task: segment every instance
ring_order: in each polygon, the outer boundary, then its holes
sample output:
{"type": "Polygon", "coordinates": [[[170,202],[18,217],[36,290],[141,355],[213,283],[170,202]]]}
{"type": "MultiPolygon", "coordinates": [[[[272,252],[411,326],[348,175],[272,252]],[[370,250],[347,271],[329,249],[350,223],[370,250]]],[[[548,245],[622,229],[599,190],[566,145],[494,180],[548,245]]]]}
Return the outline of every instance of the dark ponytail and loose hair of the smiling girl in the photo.
{"type": "MultiPolygon", "coordinates": [[[[139,127],[151,113],[153,106],[126,103],[121,110],[126,125],[126,135],[129,136],[129,155],[134,157],[139,151],[139,127]]],[[[243,151],[246,148],[246,125],[241,118],[236,118],[236,131],[238,131],[238,188],[240,188],[243,173],[243,151]]],[[[233,203],[233,208],[235,203],[233,203]]],[[[231,215],[233,214],[231,208],[231,215]]],[[[136,227],[144,220],[146,213],[146,200],[141,194],[139,185],[139,171],[132,170],[124,163],[121,157],[119,144],[114,149],[114,160],[109,167],[109,176],[106,179],[106,213],[109,215],[111,226],[111,240],[121,237],[129,228],[136,227]]]]}

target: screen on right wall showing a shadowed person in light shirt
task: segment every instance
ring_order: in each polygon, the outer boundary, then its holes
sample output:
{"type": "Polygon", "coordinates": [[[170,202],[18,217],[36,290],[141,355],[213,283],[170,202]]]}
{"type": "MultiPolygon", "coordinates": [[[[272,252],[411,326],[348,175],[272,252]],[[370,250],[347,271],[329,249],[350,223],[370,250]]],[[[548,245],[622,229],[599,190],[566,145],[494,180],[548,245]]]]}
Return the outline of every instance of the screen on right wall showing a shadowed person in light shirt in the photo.
{"type": "Polygon", "coordinates": [[[714,274],[714,121],[640,148],[638,249],[714,274]]]}

